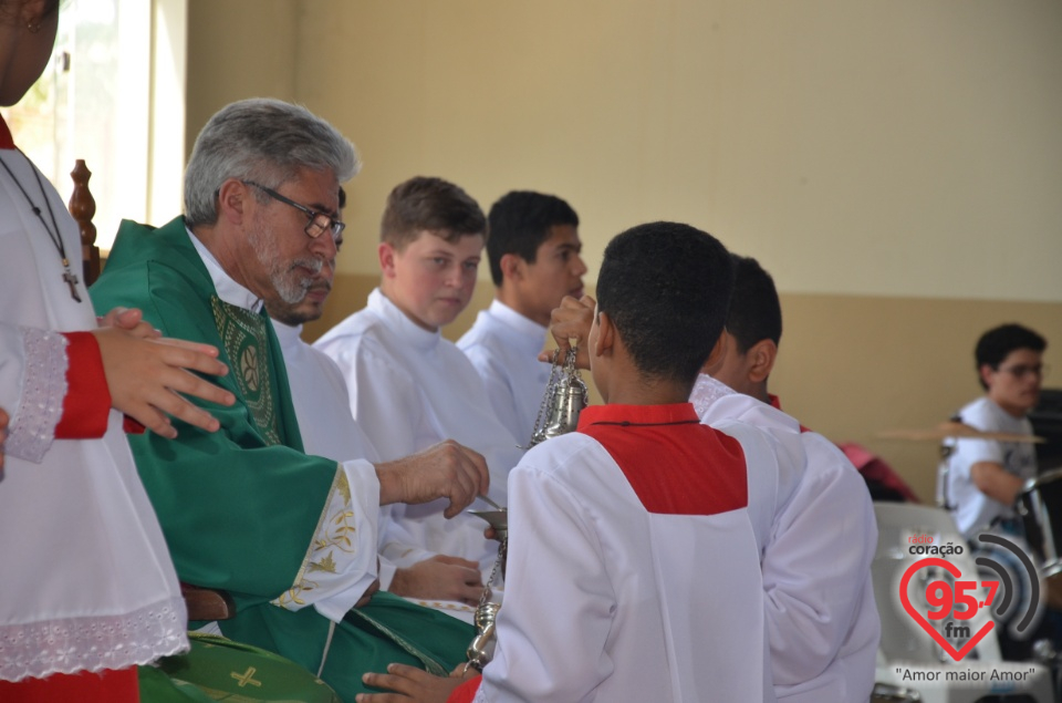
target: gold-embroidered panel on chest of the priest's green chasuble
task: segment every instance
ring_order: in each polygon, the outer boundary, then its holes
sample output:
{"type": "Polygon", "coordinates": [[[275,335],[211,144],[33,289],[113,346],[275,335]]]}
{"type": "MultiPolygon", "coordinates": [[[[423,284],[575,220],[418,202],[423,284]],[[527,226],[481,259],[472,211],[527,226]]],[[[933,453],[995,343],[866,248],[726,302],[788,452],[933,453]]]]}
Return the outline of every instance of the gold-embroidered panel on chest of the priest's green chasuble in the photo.
{"type": "Polygon", "coordinates": [[[280,444],[277,401],[269,374],[269,333],[261,316],[210,297],[214,322],[251,417],[269,445],[280,444]]]}

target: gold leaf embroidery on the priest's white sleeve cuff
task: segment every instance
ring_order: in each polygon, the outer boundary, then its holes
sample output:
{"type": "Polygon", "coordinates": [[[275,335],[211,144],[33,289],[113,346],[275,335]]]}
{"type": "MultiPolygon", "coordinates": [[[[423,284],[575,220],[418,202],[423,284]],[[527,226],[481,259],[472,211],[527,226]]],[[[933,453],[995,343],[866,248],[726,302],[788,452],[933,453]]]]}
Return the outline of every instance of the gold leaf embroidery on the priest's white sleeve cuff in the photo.
{"type": "MultiPolygon", "coordinates": [[[[321,511],[317,529],[313,534],[313,541],[306,550],[295,583],[290,589],[273,599],[274,606],[298,610],[306,604],[303,596],[320,587],[312,578],[312,573],[337,573],[335,564],[336,552],[348,555],[357,554],[357,528],[354,527],[354,504],[351,499],[351,484],[346,479],[346,472],[336,467],[335,480],[329,490],[329,499],[321,511]]],[[[317,577],[320,578],[320,577],[317,577]]]]}

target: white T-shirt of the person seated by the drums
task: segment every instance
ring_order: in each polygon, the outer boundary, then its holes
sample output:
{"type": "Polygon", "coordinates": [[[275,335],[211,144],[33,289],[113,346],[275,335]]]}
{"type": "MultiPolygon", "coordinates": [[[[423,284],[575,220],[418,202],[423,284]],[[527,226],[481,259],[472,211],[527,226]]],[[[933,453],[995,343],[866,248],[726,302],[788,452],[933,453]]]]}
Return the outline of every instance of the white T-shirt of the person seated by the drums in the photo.
{"type": "MultiPolygon", "coordinates": [[[[1014,417],[982,395],[959,411],[959,418],[982,432],[1032,434],[1028,417],[1014,417]]],[[[1023,479],[1037,477],[1037,451],[1028,442],[996,442],[995,440],[951,440],[946,445],[955,449],[948,457],[948,502],[955,506],[952,515],[959,531],[967,539],[987,531],[997,518],[1012,518],[1014,510],[981,493],[970,476],[970,468],[979,462],[999,464],[1008,474],[1023,479]]]]}

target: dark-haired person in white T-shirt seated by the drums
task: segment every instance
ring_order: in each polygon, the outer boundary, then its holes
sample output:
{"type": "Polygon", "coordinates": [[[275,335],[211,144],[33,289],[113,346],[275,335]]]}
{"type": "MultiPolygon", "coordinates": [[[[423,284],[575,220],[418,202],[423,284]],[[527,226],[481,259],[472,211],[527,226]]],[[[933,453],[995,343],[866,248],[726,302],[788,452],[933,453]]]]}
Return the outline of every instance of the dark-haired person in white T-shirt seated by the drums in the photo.
{"type": "MultiPolygon", "coordinates": [[[[959,411],[959,422],[982,432],[1031,435],[1027,415],[1040,400],[1047,347],[1047,340],[1020,324],[982,334],[974,356],[985,395],[959,411]]],[[[955,448],[948,457],[946,497],[962,535],[975,539],[1002,520],[1014,520],[1018,494],[1037,476],[1033,445],[993,440],[948,444],[955,448]]]]}

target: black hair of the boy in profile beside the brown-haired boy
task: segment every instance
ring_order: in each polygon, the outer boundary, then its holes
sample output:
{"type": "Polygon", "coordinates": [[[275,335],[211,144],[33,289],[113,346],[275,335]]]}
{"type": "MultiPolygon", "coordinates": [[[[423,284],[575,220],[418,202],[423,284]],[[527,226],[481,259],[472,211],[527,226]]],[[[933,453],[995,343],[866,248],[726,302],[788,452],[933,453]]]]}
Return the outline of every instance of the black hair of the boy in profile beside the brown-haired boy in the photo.
{"type": "Polygon", "coordinates": [[[550,236],[554,225],[579,227],[579,215],[572,206],[556,197],[533,190],[511,190],[490,207],[490,238],[487,258],[490,278],[501,286],[501,257],[516,254],[534,263],[539,246],[550,236]]]}

